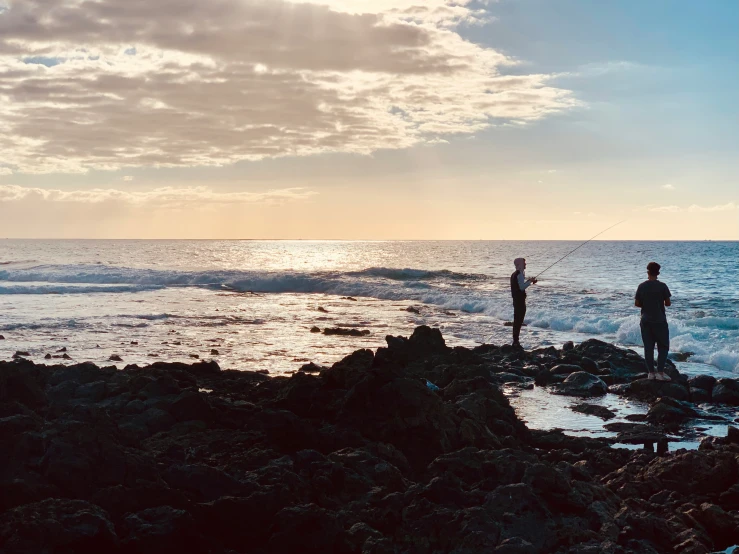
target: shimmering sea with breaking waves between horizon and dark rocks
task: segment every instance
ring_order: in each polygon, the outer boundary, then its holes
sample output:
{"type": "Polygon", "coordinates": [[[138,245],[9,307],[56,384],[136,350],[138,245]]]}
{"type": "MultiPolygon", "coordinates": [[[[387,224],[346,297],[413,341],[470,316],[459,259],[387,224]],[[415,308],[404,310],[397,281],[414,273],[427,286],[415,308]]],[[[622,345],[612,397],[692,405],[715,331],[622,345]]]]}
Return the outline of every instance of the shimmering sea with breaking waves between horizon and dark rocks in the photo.
{"type": "MultiPolygon", "coordinates": [[[[214,358],[227,369],[296,371],[440,327],[450,345],[510,342],[509,278],[534,276],[567,241],[1,240],[0,359],[119,367],[214,358]],[[318,327],[367,330],[328,336],[318,327]],[[117,355],[122,362],[110,362],[117,355]]],[[[593,241],[529,289],[525,348],[598,338],[638,349],[633,306],[646,265],[672,291],[681,366],[739,372],[739,242],[593,241]]]]}

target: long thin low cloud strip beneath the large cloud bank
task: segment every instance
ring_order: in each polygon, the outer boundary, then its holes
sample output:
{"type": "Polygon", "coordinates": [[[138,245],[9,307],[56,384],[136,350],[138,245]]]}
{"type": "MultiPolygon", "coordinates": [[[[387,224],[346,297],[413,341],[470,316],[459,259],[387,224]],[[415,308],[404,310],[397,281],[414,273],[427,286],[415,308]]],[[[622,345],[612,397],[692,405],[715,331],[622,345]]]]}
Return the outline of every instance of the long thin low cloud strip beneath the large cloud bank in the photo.
{"type": "Polygon", "coordinates": [[[274,204],[286,201],[306,200],[315,192],[303,188],[287,188],[266,192],[216,192],[208,187],[161,187],[149,191],[124,191],[116,189],[89,189],[64,191],[0,185],[0,202],[54,202],[74,204],[103,204],[119,202],[156,208],[182,208],[187,206],[223,204],[274,204]]]}

